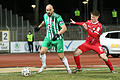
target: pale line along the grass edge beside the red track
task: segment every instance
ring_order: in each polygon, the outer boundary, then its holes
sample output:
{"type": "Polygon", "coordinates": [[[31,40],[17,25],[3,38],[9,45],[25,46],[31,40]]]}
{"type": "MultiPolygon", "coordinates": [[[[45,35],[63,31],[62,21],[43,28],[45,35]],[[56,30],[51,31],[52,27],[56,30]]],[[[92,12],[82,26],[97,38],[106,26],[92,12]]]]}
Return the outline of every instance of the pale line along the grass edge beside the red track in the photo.
{"type": "MultiPolygon", "coordinates": [[[[63,65],[50,65],[47,67],[45,70],[66,70],[66,68],[63,65]],[[50,67],[51,66],[51,67],[50,67]],[[54,67],[53,67],[54,66],[54,67]]],[[[87,65],[88,66],[88,65],[87,65]]],[[[94,68],[84,68],[84,70],[103,70],[98,69],[97,67],[104,67],[104,69],[108,69],[105,65],[89,65],[89,67],[94,67],[94,68]],[[96,67],[96,68],[95,68],[96,67]]],[[[75,68],[75,65],[70,65],[71,69],[75,68]]],[[[86,67],[86,66],[85,66],[86,67]]],[[[11,73],[11,72],[21,72],[21,70],[24,67],[13,67],[13,68],[0,68],[0,73],[11,73]]],[[[29,67],[31,71],[38,71],[40,68],[38,67],[29,67]]]]}

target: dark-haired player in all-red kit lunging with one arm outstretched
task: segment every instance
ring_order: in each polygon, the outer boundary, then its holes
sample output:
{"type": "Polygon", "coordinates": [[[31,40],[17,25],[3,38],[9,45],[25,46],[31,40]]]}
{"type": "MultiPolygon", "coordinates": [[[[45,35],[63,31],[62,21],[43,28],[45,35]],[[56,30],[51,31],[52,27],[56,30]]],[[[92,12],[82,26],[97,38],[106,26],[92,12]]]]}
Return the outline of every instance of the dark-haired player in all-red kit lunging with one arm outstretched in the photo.
{"type": "Polygon", "coordinates": [[[110,71],[112,73],[115,73],[110,60],[106,56],[100,44],[99,37],[102,31],[102,25],[98,21],[99,16],[100,13],[98,11],[93,11],[91,12],[91,20],[88,20],[87,22],[75,22],[72,19],[70,19],[70,23],[83,26],[87,31],[86,41],[82,45],[78,46],[74,53],[74,60],[77,65],[77,69],[73,70],[73,73],[82,70],[80,65],[80,54],[89,50],[97,52],[99,57],[102,58],[105,61],[106,65],[110,68],[110,71]]]}

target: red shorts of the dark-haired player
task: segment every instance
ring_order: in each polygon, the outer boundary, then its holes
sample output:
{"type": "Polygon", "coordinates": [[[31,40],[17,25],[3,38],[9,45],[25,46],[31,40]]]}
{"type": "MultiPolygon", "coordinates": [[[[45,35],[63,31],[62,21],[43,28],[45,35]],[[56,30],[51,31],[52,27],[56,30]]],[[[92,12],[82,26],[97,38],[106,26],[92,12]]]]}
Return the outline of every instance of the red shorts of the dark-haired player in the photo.
{"type": "Polygon", "coordinates": [[[93,50],[97,52],[98,54],[105,53],[100,44],[91,45],[85,42],[82,45],[80,45],[78,49],[82,50],[82,53],[89,51],[89,50],[93,50]]]}

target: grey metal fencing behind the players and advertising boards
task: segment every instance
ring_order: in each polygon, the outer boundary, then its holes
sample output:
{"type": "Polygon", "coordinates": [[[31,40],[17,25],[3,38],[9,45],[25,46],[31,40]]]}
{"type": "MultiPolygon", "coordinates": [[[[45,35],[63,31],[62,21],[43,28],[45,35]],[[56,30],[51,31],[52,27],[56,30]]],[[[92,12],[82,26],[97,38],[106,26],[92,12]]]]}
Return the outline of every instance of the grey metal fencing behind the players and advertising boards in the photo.
{"type": "MultiPolygon", "coordinates": [[[[34,27],[29,20],[24,20],[23,16],[13,14],[12,10],[2,9],[0,5],[0,30],[10,31],[10,41],[26,41],[29,30],[34,34],[35,41],[43,41],[46,35],[45,27],[39,32],[34,32],[34,27]]],[[[85,40],[86,30],[77,25],[66,23],[67,31],[64,33],[64,40],[85,40]]],[[[102,32],[120,30],[120,25],[103,25],[102,32]]]]}

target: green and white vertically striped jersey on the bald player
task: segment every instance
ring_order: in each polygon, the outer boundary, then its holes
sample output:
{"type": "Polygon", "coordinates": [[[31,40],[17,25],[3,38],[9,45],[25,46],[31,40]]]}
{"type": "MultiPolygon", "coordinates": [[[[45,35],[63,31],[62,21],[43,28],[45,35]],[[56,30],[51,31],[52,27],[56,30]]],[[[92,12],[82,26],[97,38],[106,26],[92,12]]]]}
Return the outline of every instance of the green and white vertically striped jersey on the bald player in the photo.
{"type": "MultiPolygon", "coordinates": [[[[44,22],[46,25],[46,37],[50,40],[61,30],[61,26],[65,24],[62,17],[56,13],[53,13],[52,16],[48,16],[45,13],[44,22]]],[[[63,34],[57,40],[59,39],[63,39],[63,34]]]]}

